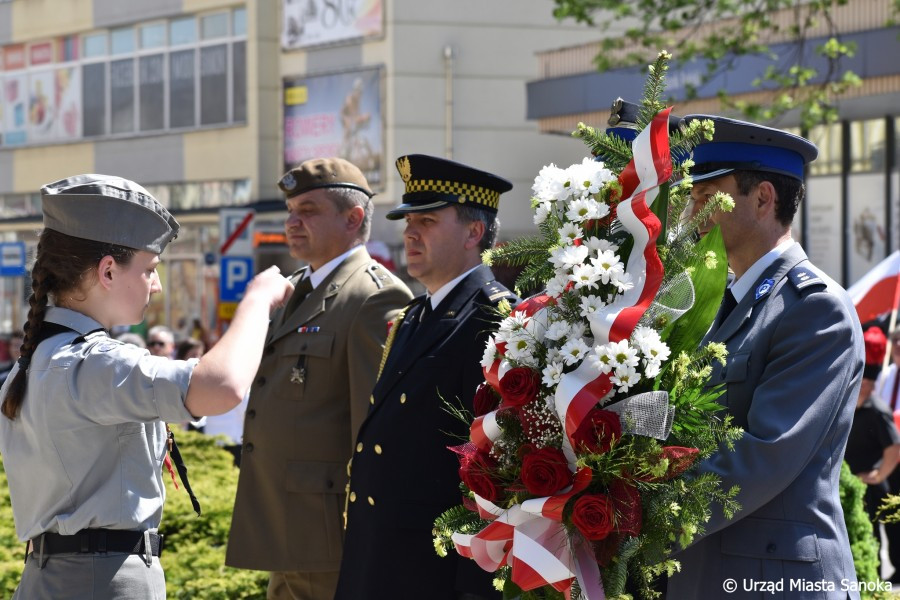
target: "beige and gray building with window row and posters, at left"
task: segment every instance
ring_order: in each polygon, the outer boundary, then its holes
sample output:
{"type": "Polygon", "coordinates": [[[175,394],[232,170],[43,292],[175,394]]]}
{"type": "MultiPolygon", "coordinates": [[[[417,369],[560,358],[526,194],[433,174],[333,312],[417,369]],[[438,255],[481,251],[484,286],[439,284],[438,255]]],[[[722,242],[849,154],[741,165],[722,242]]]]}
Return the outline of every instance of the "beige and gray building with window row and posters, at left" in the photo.
{"type": "Polygon", "coordinates": [[[525,83],[536,51],[592,35],[517,0],[0,1],[0,332],[27,313],[38,191],[76,173],[133,179],[182,223],[148,313],[181,335],[221,315],[223,208],[255,211],[255,270],[297,266],[275,182],[312,156],[368,174],[372,237],[401,270],[402,226],[383,218],[401,154],[509,178],[501,237],[530,231],[534,175],[584,148],[539,133],[525,83]]]}

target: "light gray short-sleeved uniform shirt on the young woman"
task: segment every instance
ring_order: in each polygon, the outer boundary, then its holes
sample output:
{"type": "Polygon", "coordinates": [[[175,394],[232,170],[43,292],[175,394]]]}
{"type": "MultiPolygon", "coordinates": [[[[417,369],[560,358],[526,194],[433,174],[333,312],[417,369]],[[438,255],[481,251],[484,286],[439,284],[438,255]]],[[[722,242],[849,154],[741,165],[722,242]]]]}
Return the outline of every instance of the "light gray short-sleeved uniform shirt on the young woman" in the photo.
{"type": "MultiPolygon", "coordinates": [[[[176,361],[110,338],[81,313],[50,308],[66,332],[31,359],[15,421],[0,416],[0,453],[16,534],[81,529],[155,529],[162,518],[164,421],[194,417],[184,407],[196,360],[176,361]]],[[[0,390],[15,376],[16,367],[0,390]]]]}

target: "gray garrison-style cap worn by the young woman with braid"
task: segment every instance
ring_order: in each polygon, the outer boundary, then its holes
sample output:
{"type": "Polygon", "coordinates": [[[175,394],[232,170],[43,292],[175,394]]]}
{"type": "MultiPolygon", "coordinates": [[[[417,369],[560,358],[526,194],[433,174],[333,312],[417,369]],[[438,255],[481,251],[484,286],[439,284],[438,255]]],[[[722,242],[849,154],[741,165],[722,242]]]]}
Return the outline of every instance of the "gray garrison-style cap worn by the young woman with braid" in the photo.
{"type": "Polygon", "coordinates": [[[66,235],[161,254],[178,221],[128,179],[75,175],[41,188],[44,227],[66,235]]]}

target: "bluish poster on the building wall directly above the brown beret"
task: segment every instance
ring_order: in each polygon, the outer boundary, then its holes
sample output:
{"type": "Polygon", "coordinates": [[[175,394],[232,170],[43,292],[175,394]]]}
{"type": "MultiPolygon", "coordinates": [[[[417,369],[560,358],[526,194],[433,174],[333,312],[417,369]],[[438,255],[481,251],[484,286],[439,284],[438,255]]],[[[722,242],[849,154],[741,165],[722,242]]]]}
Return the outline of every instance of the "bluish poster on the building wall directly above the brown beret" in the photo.
{"type": "Polygon", "coordinates": [[[381,69],[285,79],[285,171],[311,158],[340,156],[382,185],[381,69]]]}

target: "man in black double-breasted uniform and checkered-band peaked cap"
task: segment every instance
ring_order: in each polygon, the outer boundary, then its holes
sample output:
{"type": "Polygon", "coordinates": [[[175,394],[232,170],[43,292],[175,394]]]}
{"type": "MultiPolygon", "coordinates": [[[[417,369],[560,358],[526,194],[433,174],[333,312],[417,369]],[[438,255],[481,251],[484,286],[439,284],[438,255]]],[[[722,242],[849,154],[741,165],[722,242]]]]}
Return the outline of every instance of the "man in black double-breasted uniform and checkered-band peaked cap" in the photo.
{"type": "Polygon", "coordinates": [[[447,447],[468,437],[468,424],[447,407],[472,411],[485,342],[500,319],[495,308],[518,301],[480,259],[512,184],[424,155],[401,157],[397,169],[406,193],[388,218],[406,219],[407,270],[428,293],[394,323],[357,436],[335,598],[499,598],[493,574],[474,561],[438,557],[431,530],[461,497],[447,447]]]}

